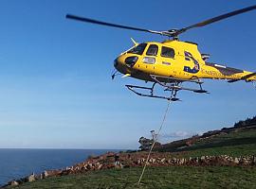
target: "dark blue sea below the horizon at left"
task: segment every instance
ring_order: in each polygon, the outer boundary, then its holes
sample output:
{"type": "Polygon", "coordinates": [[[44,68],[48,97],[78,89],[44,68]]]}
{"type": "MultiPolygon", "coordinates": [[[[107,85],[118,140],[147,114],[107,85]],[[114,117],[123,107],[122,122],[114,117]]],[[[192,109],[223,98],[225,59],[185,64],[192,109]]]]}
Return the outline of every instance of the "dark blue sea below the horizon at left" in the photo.
{"type": "Polygon", "coordinates": [[[32,173],[60,169],[111,149],[0,149],[0,186],[32,173]]]}

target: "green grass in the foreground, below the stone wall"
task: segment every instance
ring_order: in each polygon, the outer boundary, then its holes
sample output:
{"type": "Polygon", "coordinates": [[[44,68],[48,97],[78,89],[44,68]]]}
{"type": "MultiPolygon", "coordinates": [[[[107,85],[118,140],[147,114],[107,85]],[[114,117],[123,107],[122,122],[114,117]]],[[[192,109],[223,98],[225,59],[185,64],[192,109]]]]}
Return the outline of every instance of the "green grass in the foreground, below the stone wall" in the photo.
{"type": "Polygon", "coordinates": [[[137,185],[141,170],[137,167],[95,171],[38,180],[18,188],[256,188],[255,167],[148,167],[137,185]]]}

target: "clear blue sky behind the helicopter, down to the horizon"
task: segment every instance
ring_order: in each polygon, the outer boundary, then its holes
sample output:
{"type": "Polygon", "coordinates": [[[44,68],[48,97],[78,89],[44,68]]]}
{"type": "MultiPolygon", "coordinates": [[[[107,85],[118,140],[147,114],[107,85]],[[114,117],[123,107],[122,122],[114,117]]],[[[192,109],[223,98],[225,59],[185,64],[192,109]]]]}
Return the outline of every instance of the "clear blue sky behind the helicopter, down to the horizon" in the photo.
{"type": "MultiPolygon", "coordinates": [[[[65,19],[65,14],[166,30],[190,26],[255,1],[1,0],[0,148],[136,149],[157,130],[167,101],[143,98],[111,80],[113,60],[133,43],[164,37],[65,19]]],[[[256,11],[192,29],[210,61],[256,71],[256,11]]],[[[160,142],[232,126],[256,114],[251,83],[205,80],[210,94],[181,92],[171,104],[160,142]]],[[[157,88],[160,90],[160,88],[157,88]]]]}

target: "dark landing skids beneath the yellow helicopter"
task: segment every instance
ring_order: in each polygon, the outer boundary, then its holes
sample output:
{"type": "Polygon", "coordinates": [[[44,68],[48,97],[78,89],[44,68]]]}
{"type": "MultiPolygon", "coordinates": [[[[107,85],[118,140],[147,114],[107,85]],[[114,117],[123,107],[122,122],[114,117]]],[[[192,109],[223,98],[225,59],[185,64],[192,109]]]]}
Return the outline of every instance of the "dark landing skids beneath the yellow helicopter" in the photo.
{"type": "Polygon", "coordinates": [[[145,97],[152,97],[152,98],[160,98],[160,99],[167,99],[171,101],[180,101],[179,98],[176,97],[176,94],[178,91],[185,90],[185,91],[191,91],[197,94],[209,94],[208,91],[202,89],[202,83],[198,78],[192,78],[192,79],[177,79],[174,77],[159,77],[155,75],[151,75],[153,80],[155,80],[154,84],[152,87],[142,87],[142,86],[137,86],[137,85],[125,85],[127,89],[132,91],[133,93],[140,95],[140,96],[145,96],[145,97]],[[192,82],[196,83],[199,85],[199,89],[192,89],[192,88],[186,88],[182,87],[181,84],[183,82],[192,82]],[[169,91],[171,92],[170,96],[164,96],[164,95],[155,95],[154,94],[154,88],[155,84],[159,84],[160,86],[164,87],[164,91],[169,91]],[[140,91],[147,91],[148,93],[142,93],[138,92],[137,90],[140,91]]]}

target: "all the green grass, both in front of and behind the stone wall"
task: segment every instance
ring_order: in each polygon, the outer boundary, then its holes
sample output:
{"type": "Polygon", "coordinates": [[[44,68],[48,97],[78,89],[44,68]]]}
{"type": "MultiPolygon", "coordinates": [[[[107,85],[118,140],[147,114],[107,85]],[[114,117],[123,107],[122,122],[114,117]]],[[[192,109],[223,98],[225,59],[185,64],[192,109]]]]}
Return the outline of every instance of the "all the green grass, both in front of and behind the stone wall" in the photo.
{"type": "MultiPolygon", "coordinates": [[[[172,151],[174,148],[167,148],[172,151]]],[[[256,155],[256,129],[232,131],[174,150],[176,157],[256,155]]],[[[93,171],[24,183],[18,188],[256,188],[256,167],[173,166],[148,167],[142,183],[141,167],[93,171]]]]}

